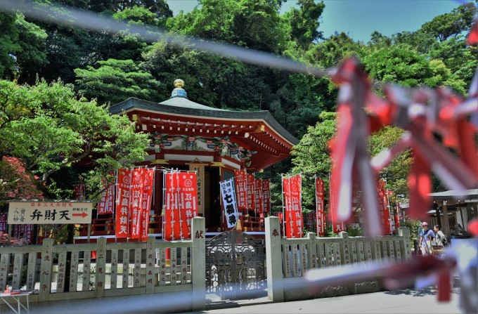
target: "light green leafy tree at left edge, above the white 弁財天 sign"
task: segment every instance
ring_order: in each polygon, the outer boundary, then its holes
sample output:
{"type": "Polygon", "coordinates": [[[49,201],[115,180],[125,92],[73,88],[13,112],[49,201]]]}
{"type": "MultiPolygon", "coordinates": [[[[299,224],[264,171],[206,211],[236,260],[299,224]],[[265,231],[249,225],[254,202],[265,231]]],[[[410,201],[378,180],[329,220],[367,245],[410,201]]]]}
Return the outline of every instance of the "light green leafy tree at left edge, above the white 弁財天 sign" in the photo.
{"type": "Polygon", "coordinates": [[[0,81],[1,155],[17,157],[37,174],[42,190],[51,174],[84,159],[96,175],[139,162],[147,142],[127,116],[110,115],[108,107],[78,98],[60,81],[0,81]]]}

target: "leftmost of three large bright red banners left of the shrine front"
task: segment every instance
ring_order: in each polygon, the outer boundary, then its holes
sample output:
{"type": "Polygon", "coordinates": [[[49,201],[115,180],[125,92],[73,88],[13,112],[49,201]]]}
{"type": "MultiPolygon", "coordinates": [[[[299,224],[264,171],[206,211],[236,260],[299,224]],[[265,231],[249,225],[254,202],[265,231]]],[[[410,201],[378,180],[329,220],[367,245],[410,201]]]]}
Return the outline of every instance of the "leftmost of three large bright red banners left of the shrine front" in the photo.
{"type": "Polygon", "coordinates": [[[116,188],[116,237],[129,235],[129,188],[131,183],[131,170],[118,170],[118,184],[116,188]]]}

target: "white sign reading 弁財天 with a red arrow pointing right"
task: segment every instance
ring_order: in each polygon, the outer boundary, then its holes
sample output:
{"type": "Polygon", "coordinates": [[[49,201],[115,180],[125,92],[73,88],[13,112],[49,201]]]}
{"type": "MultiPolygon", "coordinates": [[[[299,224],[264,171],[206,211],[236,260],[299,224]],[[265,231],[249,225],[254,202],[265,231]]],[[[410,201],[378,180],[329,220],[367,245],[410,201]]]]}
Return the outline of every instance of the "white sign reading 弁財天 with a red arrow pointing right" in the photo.
{"type": "Polygon", "coordinates": [[[91,223],[93,203],[11,202],[8,224],[91,223]]]}

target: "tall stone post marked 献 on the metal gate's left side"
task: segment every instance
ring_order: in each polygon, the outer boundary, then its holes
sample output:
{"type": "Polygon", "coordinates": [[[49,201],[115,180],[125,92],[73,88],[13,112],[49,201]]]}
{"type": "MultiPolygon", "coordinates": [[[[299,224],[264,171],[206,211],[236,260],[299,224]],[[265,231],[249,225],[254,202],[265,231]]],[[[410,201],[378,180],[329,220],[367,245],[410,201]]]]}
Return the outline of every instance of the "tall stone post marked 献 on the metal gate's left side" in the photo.
{"type": "Polygon", "coordinates": [[[205,218],[194,217],[191,225],[191,272],[193,311],[206,309],[206,224],[205,218]]]}

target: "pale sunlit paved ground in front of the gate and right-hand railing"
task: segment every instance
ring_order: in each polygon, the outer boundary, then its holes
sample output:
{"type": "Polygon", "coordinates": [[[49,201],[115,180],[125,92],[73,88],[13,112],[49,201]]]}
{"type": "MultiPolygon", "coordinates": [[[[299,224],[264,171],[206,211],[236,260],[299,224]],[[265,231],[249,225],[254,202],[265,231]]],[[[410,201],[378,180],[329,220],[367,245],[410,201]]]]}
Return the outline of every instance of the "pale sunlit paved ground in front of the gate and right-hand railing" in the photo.
{"type": "Polygon", "coordinates": [[[439,303],[437,290],[403,289],[284,303],[270,303],[267,297],[242,301],[213,301],[201,313],[462,313],[458,307],[459,289],[451,302],[439,303]]]}

